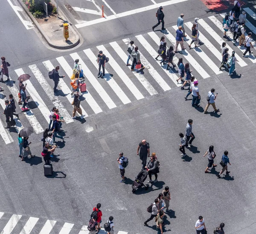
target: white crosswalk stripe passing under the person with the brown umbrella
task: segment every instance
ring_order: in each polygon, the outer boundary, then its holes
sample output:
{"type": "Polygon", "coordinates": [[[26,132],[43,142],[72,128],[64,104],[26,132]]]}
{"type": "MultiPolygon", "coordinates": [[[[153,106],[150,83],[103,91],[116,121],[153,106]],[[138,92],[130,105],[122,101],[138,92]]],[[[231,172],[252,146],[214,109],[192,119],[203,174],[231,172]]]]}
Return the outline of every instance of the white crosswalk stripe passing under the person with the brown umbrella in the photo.
{"type": "MultiPolygon", "coordinates": [[[[18,76],[25,74],[22,68],[15,69],[15,72],[18,76]]],[[[47,108],[46,104],[44,103],[43,99],[41,98],[41,95],[36,91],[35,87],[32,85],[31,81],[27,80],[25,81],[27,84],[26,90],[29,91],[29,94],[35,104],[38,106],[38,109],[41,111],[42,115],[46,119],[47,123],[49,124],[50,118],[49,118],[49,113],[50,110],[47,108]]]]}

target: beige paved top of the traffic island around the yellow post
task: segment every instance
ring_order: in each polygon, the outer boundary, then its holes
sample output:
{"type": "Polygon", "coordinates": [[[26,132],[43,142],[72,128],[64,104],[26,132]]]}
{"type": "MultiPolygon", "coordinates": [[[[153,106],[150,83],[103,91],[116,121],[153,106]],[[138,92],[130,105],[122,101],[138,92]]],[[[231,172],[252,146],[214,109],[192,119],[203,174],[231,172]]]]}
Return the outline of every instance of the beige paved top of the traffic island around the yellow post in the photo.
{"type": "MultiPolygon", "coordinates": [[[[58,8],[57,14],[52,14],[43,18],[35,18],[28,10],[22,0],[18,0],[23,10],[28,14],[35,27],[41,33],[42,37],[46,40],[49,46],[55,49],[71,49],[77,46],[80,42],[79,35],[73,26],[70,25],[66,15],[58,8]],[[63,23],[69,25],[69,38],[65,40],[63,35],[63,23]]],[[[52,1],[52,4],[56,3],[52,1]]]]}

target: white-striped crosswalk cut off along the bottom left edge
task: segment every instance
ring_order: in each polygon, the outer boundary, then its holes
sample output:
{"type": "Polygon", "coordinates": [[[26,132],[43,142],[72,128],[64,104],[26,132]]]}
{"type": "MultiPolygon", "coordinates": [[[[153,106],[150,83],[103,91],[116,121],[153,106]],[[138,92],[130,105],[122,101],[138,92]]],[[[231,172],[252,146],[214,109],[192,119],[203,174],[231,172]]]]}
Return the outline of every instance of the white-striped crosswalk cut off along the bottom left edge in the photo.
{"type": "MultiPolygon", "coordinates": [[[[118,225],[115,226],[116,234],[130,234],[126,231],[116,231],[118,225]]],[[[87,225],[4,212],[0,212],[0,231],[0,234],[89,234],[87,225]]],[[[99,234],[107,232],[102,228],[99,234]]]]}

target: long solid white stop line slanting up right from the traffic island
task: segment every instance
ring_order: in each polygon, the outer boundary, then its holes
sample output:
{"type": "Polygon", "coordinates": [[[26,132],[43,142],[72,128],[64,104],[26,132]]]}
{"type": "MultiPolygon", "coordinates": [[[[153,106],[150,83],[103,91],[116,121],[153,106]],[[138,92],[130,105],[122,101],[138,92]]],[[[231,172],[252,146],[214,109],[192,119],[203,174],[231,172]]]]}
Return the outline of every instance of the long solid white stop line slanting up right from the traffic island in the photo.
{"type": "Polygon", "coordinates": [[[82,28],[82,27],[93,25],[93,24],[96,24],[96,23],[102,23],[102,22],[105,22],[105,21],[125,17],[125,16],[128,16],[128,15],[137,14],[137,13],[140,13],[140,12],[145,12],[145,11],[149,11],[149,10],[152,10],[152,9],[157,9],[160,6],[169,6],[169,5],[172,5],[172,4],[181,3],[181,2],[185,2],[185,1],[187,1],[187,0],[169,0],[169,1],[166,1],[166,2],[163,2],[163,3],[157,3],[157,4],[152,4],[152,5],[149,5],[149,6],[144,6],[144,7],[138,8],[138,9],[134,9],[134,10],[127,11],[127,12],[122,12],[122,13],[119,13],[119,14],[112,14],[112,15],[106,17],[106,18],[102,17],[102,18],[99,18],[99,19],[96,19],[96,20],[90,20],[90,21],[87,21],[85,23],[76,24],[75,26],[77,28],[82,28]]]}

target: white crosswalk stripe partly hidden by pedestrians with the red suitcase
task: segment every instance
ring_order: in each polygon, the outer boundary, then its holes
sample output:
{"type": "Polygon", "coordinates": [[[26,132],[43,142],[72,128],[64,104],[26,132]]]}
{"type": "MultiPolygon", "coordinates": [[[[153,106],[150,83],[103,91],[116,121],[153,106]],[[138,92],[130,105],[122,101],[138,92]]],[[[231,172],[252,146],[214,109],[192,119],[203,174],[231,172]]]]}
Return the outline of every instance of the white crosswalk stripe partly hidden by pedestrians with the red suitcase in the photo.
{"type": "MultiPolygon", "coordinates": [[[[73,74],[73,68],[67,63],[65,58],[63,56],[56,58],[58,62],[61,64],[62,68],[67,74],[72,75],[73,74]]],[[[102,109],[99,107],[97,102],[94,100],[93,96],[90,94],[90,92],[87,90],[86,92],[82,93],[85,97],[85,101],[90,105],[90,107],[93,109],[94,113],[98,114],[102,112],[102,109]]],[[[82,110],[83,111],[83,110],[82,110]]]]}

